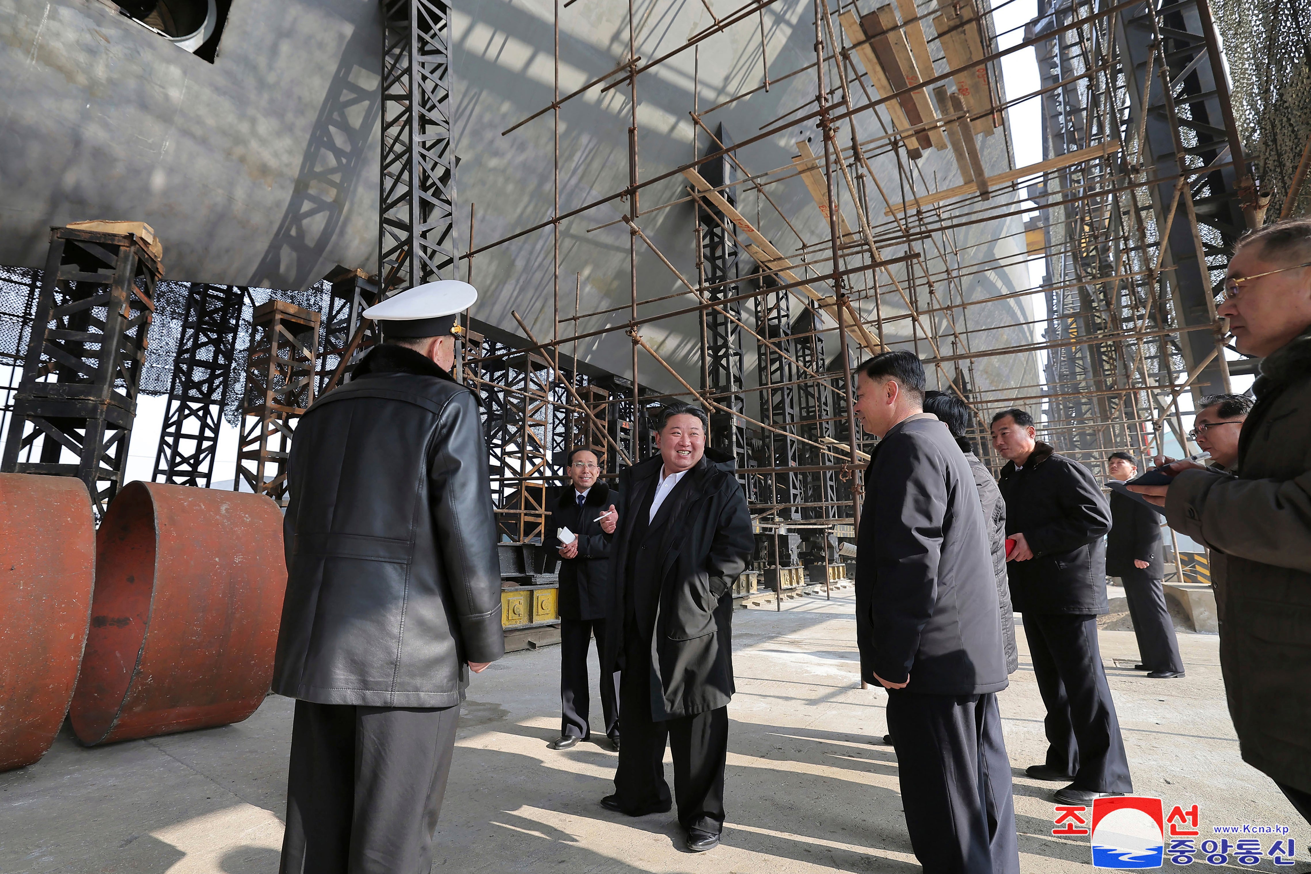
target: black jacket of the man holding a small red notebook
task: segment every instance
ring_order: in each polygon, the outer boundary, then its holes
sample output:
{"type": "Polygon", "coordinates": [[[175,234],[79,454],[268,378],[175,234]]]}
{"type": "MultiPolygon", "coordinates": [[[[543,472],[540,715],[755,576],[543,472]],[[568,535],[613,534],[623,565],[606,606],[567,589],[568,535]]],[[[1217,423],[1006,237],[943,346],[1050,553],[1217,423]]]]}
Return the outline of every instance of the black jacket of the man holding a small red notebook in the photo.
{"type": "Polygon", "coordinates": [[[1038,443],[1025,465],[1008,461],[998,482],[1006,498],[1006,533],[1020,532],[1033,550],[1007,562],[1011,603],[1021,613],[1101,615],[1106,603],[1110,507],[1088,468],[1038,443]]]}

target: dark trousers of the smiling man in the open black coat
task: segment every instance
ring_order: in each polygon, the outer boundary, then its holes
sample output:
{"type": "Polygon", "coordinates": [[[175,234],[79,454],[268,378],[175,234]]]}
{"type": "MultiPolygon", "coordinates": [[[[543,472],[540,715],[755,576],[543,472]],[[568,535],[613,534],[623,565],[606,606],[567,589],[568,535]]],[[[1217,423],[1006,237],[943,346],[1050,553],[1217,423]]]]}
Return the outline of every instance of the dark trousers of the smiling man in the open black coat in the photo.
{"type": "Polygon", "coordinates": [[[665,810],[670,805],[665,782],[665,740],[674,753],[674,790],[678,822],[718,835],[724,829],[724,765],[729,755],[729,709],[717,708],[691,717],[652,719],[650,638],[624,634],[624,670],[619,683],[619,768],[615,794],[624,812],[665,810]]]}

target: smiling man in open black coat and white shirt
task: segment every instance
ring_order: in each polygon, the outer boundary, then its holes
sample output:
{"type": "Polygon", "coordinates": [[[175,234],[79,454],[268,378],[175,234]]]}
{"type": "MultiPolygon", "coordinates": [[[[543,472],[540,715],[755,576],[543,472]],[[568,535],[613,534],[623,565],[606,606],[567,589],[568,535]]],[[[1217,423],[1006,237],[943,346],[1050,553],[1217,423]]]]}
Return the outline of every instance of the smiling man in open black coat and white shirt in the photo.
{"type": "Polygon", "coordinates": [[[619,474],[627,510],[612,546],[602,659],[602,671],[623,671],[624,746],[615,794],[600,803],[629,816],[667,811],[667,739],[678,820],[692,852],[717,846],[724,829],[733,582],[755,550],[733,460],[712,461],[707,431],[699,406],[666,408],[659,455],[619,474]]]}

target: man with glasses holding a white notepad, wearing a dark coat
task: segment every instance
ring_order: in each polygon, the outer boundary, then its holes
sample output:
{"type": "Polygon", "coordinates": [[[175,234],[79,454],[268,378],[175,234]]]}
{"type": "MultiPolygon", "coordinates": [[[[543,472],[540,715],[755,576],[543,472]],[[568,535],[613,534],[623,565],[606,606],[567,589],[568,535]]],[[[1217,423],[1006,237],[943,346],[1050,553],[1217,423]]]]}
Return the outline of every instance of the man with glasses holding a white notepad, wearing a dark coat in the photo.
{"type": "MultiPolygon", "coordinates": [[[[610,539],[602,528],[617,514],[616,498],[600,482],[600,461],[586,447],[569,451],[569,484],[556,493],[549,535],[569,529],[573,540],[560,550],[560,736],[552,750],[568,750],[591,736],[587,650],[597,638],[597,655],[606,645],[606,609],[610,607],[610,539]]],[[[557,539],[558,542],[558,539],[557,539]]],[[[600,710],[606,736],[619,750],[619,672],[600,672],[600,710]]]]}

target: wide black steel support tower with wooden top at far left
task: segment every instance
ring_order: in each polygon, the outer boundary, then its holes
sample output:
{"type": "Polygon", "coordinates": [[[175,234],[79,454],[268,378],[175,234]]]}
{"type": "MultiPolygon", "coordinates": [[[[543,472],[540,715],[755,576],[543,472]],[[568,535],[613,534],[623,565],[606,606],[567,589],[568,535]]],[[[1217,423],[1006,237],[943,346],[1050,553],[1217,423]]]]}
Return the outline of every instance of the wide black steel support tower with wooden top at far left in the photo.
{"type": "Polygon", "coordinates": [[[0,470],[77,477],[104,515],[123,485],[161,275],[136,235],[51,228],[0,470]]]}

